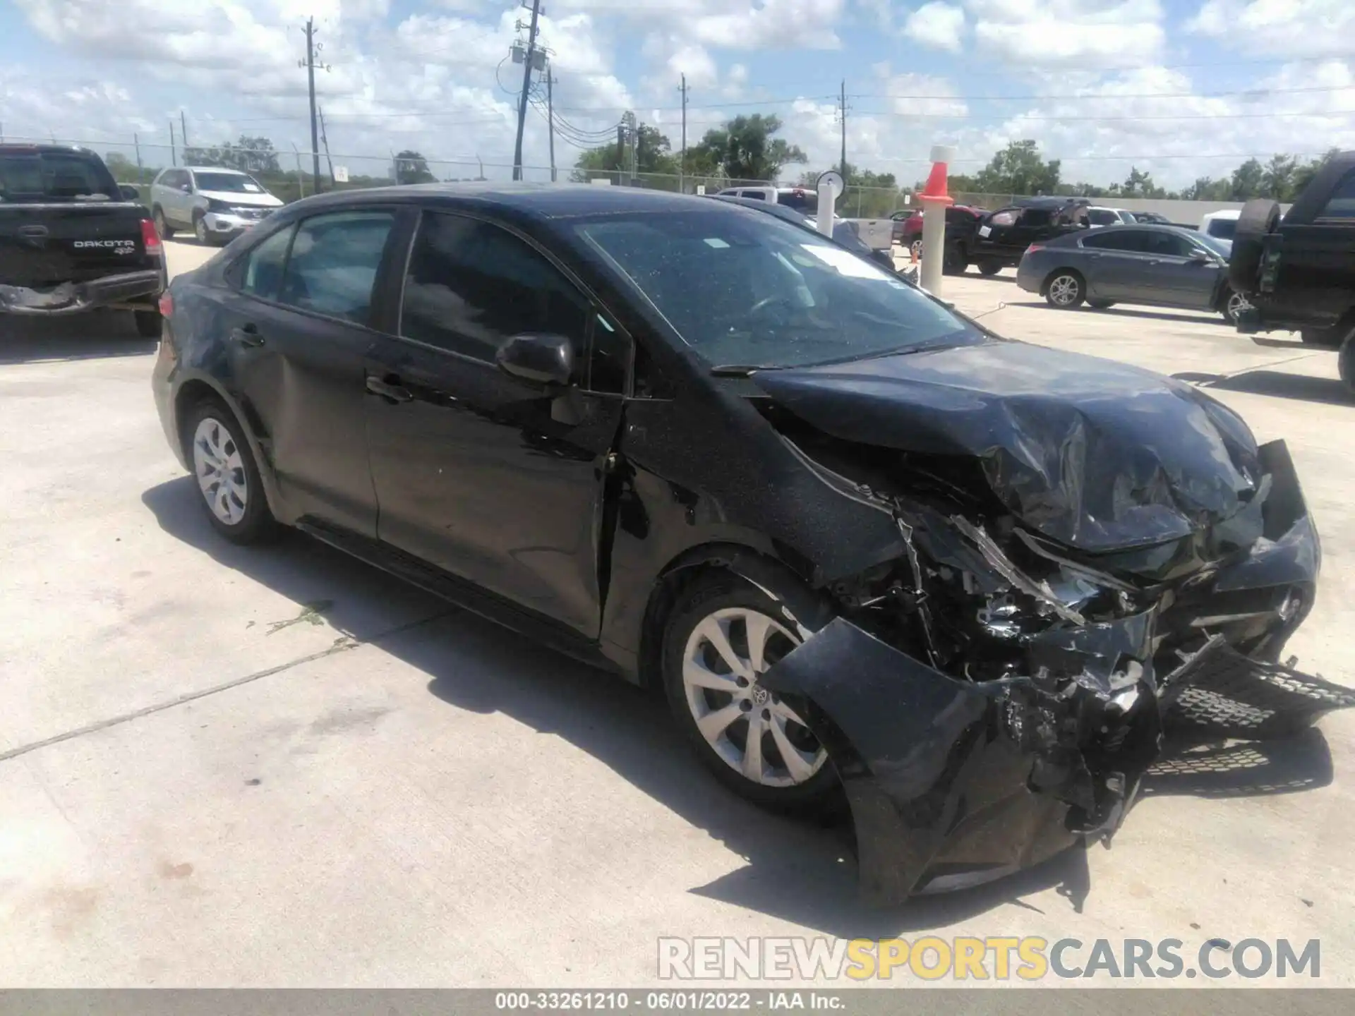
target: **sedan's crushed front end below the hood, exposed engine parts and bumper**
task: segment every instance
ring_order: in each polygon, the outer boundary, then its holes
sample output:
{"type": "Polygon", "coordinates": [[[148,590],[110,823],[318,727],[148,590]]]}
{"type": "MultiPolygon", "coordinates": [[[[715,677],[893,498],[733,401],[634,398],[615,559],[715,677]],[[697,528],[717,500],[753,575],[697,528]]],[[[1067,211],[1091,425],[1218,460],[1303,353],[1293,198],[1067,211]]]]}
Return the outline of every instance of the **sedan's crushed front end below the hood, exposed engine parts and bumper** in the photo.
{"type": "Polygon", "coordinates": [[[835,760],[877,904],[1108,843],[1173,726],[1278,737],[1355,704],[1279,662],[1321,557],[1282,442],[1233,515],[1085,551],[938,459],[875,484],[878,454],[798,436],[844,493],[888,504],[905,551],[832,583],[839,616],[762,681],[835,760]]]}

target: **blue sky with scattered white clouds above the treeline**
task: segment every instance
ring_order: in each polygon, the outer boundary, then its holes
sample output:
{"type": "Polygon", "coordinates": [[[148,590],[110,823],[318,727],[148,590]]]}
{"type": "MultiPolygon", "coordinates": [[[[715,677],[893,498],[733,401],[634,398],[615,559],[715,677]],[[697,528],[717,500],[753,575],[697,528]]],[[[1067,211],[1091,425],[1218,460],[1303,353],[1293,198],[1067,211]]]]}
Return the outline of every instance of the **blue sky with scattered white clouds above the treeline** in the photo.
{"type": "MultiPolygon", "coordinates": [[[[507,0],[9,0],[0,5],[0,125],[164,163],[168,121],[195,144],[262,134],[309,148],[301,26],[320,24],[318,76],[336,163],[379,172],[416,148],[439,176],[511,161],[520,68],[503,62],[507,0]]],[[[740,112],[774,112],[810,167],[836,161],[846,79],[848,160],[925,175],[934,142],[978,168],[1035,138],[1064,176],[1179,186],[1245,156],[1355,148],[1350,0],[554,0],[557,160],[621,112],[676,145],[740,112]]],[[[545,167],[533,112],[526,161],[545,167]]],[[[793,167],[791,172],[798,173],[793,167]]],[[[545,171],[535,171],[543,175],[545,171]]],[[[531,173],[528,173],[530,176],[531,173]]]]}

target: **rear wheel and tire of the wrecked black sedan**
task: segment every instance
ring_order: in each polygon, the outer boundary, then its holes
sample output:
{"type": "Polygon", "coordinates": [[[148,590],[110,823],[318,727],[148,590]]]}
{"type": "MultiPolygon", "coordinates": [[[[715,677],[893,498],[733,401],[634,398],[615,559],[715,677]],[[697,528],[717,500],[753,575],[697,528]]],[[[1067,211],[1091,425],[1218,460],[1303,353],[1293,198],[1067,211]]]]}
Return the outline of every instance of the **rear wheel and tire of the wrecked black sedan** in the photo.
{"type": "Polygon", "coordinates": [[[241,545],[263,543],[278,535],[280,527],[268,508],[249,442],[224,402],[205,398],[190,408],[183,421],[183,446],[198,485],[198,503],[217,532],[241,545]],[[214,470],[213,462],[224,463],[225,469],[214,470]]]}

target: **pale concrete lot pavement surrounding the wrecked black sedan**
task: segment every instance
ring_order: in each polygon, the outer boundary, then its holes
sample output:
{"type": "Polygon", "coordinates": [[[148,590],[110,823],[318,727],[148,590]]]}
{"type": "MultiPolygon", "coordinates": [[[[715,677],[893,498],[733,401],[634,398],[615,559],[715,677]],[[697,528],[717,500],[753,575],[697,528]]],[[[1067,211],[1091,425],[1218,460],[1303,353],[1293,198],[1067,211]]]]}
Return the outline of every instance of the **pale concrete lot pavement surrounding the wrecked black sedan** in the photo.
{"type": "MultiPolygon", "coordinates": [[[[1291,649],[1355,683],[1332,354],[1009,276],[943,295],[1290,442],[1325,554],[1291,649]]],[[[1320,937],[1321,983],[1355,983],[1355,718],[1159,767],[1111,851],[863,910],[841,833],[724,792],[663,703],[306,538],[215,538],[152,352],[111,316],[0,337],[0,985],[637,985],[660,935],[923,931],[1320,937]]]]}

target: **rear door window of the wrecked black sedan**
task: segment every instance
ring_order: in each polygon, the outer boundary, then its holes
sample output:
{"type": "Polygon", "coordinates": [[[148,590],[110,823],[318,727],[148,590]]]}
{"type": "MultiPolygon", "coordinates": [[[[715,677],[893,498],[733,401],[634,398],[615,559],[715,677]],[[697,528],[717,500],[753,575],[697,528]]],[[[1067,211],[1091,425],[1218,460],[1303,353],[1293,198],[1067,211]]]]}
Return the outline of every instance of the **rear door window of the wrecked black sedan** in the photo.
{"type": "Polygon", "coordinates": [[[394,224],[390,211],[336,211],[297,228],[279,299],[359,325],[371,324],[377,271],[394,224]]]}

